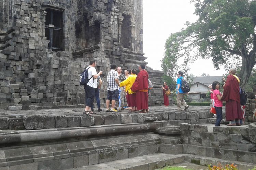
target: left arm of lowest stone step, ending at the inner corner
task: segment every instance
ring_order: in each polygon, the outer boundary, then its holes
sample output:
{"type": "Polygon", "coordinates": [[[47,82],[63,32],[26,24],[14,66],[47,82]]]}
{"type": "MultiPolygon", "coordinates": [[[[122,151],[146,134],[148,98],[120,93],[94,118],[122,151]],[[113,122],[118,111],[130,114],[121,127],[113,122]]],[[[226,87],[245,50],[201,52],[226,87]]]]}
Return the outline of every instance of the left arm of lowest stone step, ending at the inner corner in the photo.
{"type": "Polygon", "coordinates": [[[156,168],[181,163],[185,160],[185,156],[185,154],[171,155],[157,153],[66,170],[153,170],[156,168]]]}

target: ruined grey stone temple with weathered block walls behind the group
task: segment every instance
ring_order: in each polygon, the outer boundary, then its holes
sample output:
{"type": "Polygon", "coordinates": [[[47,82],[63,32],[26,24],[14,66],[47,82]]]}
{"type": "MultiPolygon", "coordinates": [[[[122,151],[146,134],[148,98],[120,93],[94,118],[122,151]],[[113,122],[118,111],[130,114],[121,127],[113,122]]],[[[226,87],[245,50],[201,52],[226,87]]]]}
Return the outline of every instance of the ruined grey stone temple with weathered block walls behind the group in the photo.
{"type": "MultiPolygon", "coordinates": [[[[1,0],[0,108],[82,107],[80,73],[90,58],[138,69],[143,53],[142,0],[1,0]]],[[[146,67],[151,105],[162,104],[162,71],[146,67]]],[[[100,91],[103,105],[106,76],[100,91]]]]}

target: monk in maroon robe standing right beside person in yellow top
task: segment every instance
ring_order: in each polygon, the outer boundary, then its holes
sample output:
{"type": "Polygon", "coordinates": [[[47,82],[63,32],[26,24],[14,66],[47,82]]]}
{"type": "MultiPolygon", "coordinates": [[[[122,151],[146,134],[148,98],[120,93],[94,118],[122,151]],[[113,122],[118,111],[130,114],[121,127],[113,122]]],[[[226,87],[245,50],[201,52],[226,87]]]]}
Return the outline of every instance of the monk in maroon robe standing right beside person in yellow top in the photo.
{"type": "Polygon", "coordinates": [[[140,64],[139,74],[133,83],[131,90],[136,91],[136,105],[140,113],[148,112],[148,73],[145,70],[145,65],[140,64]]]}

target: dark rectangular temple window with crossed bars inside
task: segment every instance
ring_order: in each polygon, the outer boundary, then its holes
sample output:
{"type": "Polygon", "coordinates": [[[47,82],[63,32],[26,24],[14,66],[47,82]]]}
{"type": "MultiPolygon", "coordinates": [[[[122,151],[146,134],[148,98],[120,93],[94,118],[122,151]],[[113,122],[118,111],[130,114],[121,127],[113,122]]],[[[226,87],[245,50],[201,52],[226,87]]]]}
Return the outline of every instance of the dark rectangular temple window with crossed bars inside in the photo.
{"type": "Polygon", "coordinates": [[[53,51],[63,50],[63,12],[49,8],[45,11],[45,36],[50,41],[48,47],[53,51]]]}

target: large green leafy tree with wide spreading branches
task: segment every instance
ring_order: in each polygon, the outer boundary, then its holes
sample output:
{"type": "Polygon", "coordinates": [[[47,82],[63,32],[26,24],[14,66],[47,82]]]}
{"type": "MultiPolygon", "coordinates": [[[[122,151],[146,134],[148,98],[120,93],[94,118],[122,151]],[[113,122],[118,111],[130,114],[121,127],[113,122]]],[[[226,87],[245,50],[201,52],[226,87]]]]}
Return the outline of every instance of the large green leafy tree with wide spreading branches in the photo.
{"type": "Polygon", "coordinates": [[[256,64],[256,1],[191,0],[198,20],[186,22],[187,28],[171,34],[166,40],[162,69],[170,76],[199,58],[212,58],[214,67],[241,66],[241,86],[247,82],[256,64]],[[234,61],[237,61],[236,63],[234,61]],[[242,61],[242,64],[240,64],[242,61]]]}

